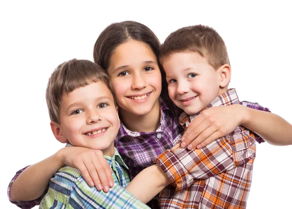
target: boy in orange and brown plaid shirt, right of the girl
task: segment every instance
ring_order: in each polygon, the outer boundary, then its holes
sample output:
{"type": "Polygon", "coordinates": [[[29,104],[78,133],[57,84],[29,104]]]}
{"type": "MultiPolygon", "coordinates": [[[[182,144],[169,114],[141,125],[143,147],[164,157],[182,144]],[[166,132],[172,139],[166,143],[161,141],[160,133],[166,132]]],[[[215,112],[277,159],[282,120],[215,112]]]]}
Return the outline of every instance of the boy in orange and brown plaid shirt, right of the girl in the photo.
{"type": "MultiPolygon", "coordinates": [[[[210,107],[239,105],[235,89],[227,88],[231,67],[225,43],[213,28],[195,25],[171,33],[159,57],[169,96],[184,111],[180,123],[185,130],[210,107]]],[[[153,178],[148,180],[149,167],[133,180],[147,178],[141,187],[145,192],[140,195],[146,198],[147,191],[158,193],[171,183],[160,193],[163,209],[246,208],[256,157],[254,133],[238,126],[202,149],[188,150],[180,145],[157,158],[158,165],[151,167],[159,166],[162,171],[152,170],[153,178]]],[[[139,192],[134,195],[139,198],[139,192]]]]}

